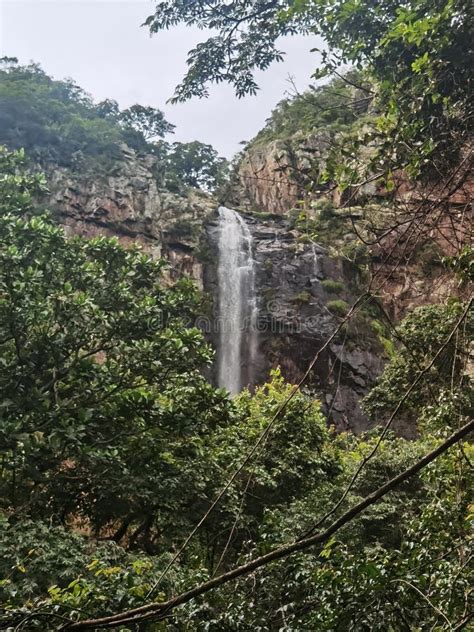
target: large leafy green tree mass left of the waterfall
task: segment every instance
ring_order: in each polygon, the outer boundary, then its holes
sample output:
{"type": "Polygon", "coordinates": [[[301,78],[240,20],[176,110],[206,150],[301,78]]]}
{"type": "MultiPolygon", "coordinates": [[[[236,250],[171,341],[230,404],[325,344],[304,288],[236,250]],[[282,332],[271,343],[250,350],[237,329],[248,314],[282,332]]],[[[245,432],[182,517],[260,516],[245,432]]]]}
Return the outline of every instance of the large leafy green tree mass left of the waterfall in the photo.
{"type": "Polygon", "coordinates": [[[146,539],[196,502],[209,473],[193,461],[227,418],[200,372],[199,297],[138,248],[66,239],[35,215],[22,154],[0,157],[1,507],[146,539]]]}

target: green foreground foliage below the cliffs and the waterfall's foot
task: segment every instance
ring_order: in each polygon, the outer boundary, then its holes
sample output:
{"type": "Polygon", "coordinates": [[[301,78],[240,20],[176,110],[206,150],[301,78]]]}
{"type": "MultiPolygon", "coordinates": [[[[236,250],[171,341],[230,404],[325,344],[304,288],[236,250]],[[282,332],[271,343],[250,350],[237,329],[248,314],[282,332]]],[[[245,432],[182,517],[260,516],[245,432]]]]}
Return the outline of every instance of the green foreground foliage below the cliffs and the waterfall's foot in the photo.
{"type": "MultiPolygon", "coordinates": [[[[389,433],[380,442],[380,431],[335,437],[318,402],[295,394],[162,577],[292,387],[278,371],[233,400],[210,386],[199,371],[210,350],[190,327],[195,290],[163,284],[163,262],[115,240],[65,239],[36,212],[32,195],[45,182],[24,160],[0,154],[2,627],[56,630],[186,590],[312,530],[352,480],[340,515],[469,414],[459,405],[469,319],[430,376],[434,399],[422,384],[410,401],[423,421],[417,441],[389,433]]],[[[387,385],[406,390],[413,363],[446,340],[462,307],[443,309],[449,318],[426,308],[402,324],[413,353],[396,354],[373,405],[390,409],[387,385]]],[[[471,453],[458,446],[312,554],[140,629],[462,629],[471,453]]]]}

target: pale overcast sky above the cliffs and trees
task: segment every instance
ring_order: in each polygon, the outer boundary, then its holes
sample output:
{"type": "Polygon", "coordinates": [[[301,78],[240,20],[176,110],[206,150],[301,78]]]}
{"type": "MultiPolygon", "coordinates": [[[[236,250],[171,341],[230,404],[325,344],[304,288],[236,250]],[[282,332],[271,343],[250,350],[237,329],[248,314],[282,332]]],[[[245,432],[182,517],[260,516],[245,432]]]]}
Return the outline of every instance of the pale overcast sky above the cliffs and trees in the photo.
{"type": "Polygon", "coordinates": [[[152,0],[0,0],[0,56],[39,62],[57,79],[72,77],[95,100],[116,99],[122,108],[158,107],[177,126],[173,139],[210,143],[228,157],[291,90],[288,76],[302,90],[317,66],[318,55],[310,52],[318,45],[315,38],[286,38],[285,62],[259,73],[256,97],[239,100],[231,87],[219,85],[208,99],[166,104],[185,71],[187,51],[204,34],[177,27],[150,37],[140,24],[153,5],[152,0]]]}

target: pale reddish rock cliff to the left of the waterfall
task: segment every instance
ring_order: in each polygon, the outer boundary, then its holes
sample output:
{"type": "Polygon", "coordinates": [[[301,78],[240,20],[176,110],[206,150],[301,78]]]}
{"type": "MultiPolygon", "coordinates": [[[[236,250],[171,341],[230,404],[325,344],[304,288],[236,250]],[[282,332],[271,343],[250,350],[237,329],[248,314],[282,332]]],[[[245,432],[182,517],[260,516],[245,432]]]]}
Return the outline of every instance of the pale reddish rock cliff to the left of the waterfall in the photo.
{"type": "Polygon", "coordinates": [[[155,167],[153,156],[138,157],[124,146],[122,160],[106,175],[50,170],[48,206],[67,233],[138,243],[151,256],[166,257],[171,276],[187,274],[202,287],[196,251],[216,202],[197,190],[180,195],[160,187],[155,167]]]}

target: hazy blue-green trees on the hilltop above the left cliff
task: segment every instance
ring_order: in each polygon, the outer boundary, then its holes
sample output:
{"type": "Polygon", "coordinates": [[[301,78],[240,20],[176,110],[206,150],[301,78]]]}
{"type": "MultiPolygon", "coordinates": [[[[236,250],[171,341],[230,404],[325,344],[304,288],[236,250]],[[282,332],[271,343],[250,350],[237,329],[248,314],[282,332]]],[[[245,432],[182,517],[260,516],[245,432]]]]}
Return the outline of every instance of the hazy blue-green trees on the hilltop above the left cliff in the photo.
{"type": "Polygon", "coordinates": [[[173,130],[161,110],[138,104],[120,110],[110,99],[94,103],[72,80],[54,80],[37,64],[0,60],[0,143],[26,150],[43,168],[107,173],[131,149],[156,158],[160,185],[216,190],[225,181],[226,160],[199,141],[161,140],[173,130]]]}

